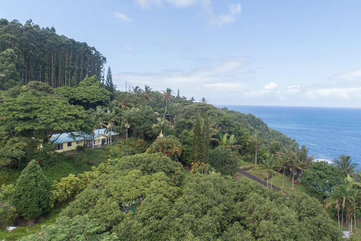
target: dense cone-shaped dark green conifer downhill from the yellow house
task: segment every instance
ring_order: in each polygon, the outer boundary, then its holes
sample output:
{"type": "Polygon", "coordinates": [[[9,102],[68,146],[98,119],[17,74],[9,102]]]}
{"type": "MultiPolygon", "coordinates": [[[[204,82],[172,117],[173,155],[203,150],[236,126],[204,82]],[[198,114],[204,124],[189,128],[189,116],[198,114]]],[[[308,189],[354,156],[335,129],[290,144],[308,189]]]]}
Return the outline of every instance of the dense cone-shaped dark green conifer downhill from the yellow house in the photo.
{"type": "Polygon", "coordinates": [[[13,204],[26,220],[38,218],[49,210],[50,183],[42,169],[32,160],[16,182],[13,204]]]}

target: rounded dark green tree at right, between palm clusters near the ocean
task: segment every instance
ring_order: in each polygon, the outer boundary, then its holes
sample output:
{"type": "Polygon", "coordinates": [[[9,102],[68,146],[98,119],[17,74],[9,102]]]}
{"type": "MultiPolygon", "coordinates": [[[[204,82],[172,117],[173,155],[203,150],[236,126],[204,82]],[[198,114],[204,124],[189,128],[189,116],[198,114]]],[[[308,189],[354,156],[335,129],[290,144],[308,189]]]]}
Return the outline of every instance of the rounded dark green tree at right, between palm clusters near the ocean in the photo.
{"type": "Polygon", "coordinates": [[[342,180],[343,173],[327,162],[313,163],[300,178],[308,193],[316,198],[326,198],[342,180]]]}

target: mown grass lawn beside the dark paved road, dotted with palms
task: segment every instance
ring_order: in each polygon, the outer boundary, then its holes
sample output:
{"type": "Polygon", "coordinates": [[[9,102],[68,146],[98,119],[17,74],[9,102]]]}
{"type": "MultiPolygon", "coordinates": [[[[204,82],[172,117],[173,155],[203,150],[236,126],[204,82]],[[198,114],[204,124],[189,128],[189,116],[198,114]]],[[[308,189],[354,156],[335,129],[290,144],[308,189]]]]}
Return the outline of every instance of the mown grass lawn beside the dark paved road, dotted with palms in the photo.
{"type": "MultiPolygon", "coordinates": [[[[261,180],[267,180],[267,170],[266,169],[258,169],[257,168],[257,172],[255,172],[255,169],[249,169],[247,172],[251,173],[252,175],[260,178],[261,180]]],[[[288,194],[294,193],[295,191],[301,191],[303,193],[306,193],[306,188],[297,183],[294,184],[294,189],[292,189],[292,180],[288,181],[288,177],[284,176],[284,185],[282,188],[282,173],[273,173],[273,181],[272,181],[272,185],[278,187],[279,189],[281,189],[282,191],[285,191],[288,194]]],[[[271,177],[269,178],[269,184],[271,184],[271,177]]]]}

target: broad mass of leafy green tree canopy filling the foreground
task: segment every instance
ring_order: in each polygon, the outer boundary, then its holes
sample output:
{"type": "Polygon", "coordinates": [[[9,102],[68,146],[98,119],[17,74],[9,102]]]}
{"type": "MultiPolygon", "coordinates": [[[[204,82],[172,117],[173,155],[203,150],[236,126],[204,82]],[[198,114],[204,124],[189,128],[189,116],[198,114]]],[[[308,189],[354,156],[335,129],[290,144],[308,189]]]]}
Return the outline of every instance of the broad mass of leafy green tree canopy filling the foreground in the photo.
{"type": "MultiPolygon", "coordinates": [[[[225,149],[223,149],[225,150],[225,149]]],[[[316,199],[217,173],[184,177],[160,154],[113,160],[62,212],[88,215],[120,240],[337,240],[316,199]],[[306,211],[305,211],[306,210],[306,211]]]]}

